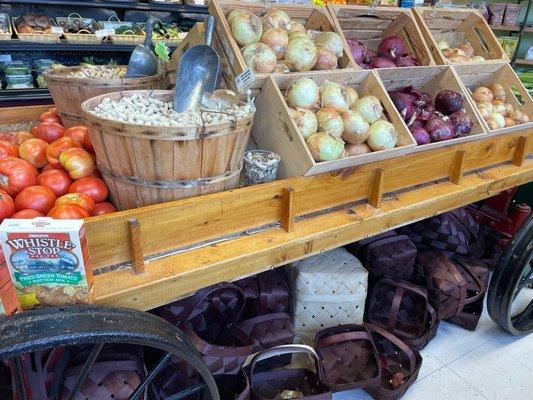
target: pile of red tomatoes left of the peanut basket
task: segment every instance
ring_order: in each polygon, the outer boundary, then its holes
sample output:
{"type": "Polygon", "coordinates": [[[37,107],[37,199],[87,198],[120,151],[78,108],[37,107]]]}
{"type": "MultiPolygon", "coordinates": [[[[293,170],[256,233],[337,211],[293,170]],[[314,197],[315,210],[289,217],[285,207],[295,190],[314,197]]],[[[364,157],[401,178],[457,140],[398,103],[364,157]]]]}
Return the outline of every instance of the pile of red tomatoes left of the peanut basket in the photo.
{"type": "Polygon", "coordinates": [[[96,168],[86,126],[65,129],[57,110],[31,131],[0,136],[0,222],[5,218],[82,219],[115,212],[96,168]]]}

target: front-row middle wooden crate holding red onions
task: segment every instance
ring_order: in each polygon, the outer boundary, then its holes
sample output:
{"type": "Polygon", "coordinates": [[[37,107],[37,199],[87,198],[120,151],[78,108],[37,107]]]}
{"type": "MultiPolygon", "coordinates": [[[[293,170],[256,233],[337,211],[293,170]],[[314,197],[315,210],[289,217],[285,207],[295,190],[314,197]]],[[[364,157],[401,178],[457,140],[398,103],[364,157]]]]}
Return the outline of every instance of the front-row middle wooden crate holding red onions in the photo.
{"type": "Polygon", "coordinates": [[[432,99],[435,99],[437,93],[441,90],[449,89],[463,95],[465,101],[463,108],[467,114],[470,115],[474,121],[470,135],[446,140],[443,142],[435,142],[417,146],[416,150],[426,150],[435,147],[451,146],[457,143],[469,142],[471,140],[479,139],[485,134],[485,128],[478,118],[478,113],[475,110],[475,104],[466,93],[466,90],[461,85],[459,77],[451,66],[437,65],[432,67],[412,67],[401,69],[378,69],[376,70],[383,86],[387,91],[397,90],[405,86],[413,85],[416,89],[428,93],[432,99]]]}

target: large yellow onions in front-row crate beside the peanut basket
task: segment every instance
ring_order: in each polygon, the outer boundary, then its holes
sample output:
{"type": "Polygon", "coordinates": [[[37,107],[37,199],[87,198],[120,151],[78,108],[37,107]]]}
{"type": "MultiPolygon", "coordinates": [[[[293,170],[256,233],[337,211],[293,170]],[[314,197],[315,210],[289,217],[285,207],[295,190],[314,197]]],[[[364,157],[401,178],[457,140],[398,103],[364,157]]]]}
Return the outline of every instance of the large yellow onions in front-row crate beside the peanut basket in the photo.
{"type": "Polygon", "coordinates": [[[310,78],[294,82],[285,95],[289,115],[315,161],[331,161],[396,147],[397,132],[375,96],[349,86],[310,78]]]}

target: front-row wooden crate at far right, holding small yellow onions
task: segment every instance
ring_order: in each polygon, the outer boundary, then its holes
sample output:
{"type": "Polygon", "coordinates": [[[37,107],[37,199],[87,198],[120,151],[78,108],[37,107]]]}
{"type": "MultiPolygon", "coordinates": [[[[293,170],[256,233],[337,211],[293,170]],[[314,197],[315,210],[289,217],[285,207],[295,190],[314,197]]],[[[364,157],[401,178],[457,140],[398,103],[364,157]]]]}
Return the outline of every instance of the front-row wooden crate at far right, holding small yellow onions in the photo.
{"type": "MultiPolygon", "coordinates": [[[[527,89],[522,85],[518,76],[508,63],[500,64],[487,64],[487,65],[455,65],[453,67],[459,76],[461,84],[465,87],[465,91],[470,94],[478,86],[490,86],[495,83],[501,84],[505,88],[507,93],[507,102],[511,103],[513,107],[519,109],[525,113],[531,122],[527,124],[510,126],[507,128],[490,130],[485,120],[481,117],[481,114],[475,106],[475,102],[472,98],[472,104],[482,123],[485,131],[490,135],[500,135],[508,132],[520,131],[533,127],[533,100],[527,89]],[[522,97],[520,102],[511,91],[511,88],[515,87],[522,97]]],[[[470,96],[469,96],[470,97],[470,96]]]]}

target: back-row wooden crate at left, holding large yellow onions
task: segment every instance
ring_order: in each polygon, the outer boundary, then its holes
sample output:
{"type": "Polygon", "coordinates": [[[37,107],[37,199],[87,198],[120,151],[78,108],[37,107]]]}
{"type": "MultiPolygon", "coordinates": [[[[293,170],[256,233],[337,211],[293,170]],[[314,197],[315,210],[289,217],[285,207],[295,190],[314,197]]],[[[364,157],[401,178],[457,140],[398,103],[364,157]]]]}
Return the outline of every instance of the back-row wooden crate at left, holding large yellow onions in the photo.
{"type": "MultiPolygon", "coordinates": [[[[335,28],[329,12],[324,7],[285,4],[275,4],[273,7],[285,11],[291,19],[300,22],[306,29],[333,31],[340,34],[335,28]]],[[[233,38],[228,21],[226,20],[226,16],[235,9],[244,9],[253,14],[261,15],[267,8],[263,4],[252,4],[242,1],[213,0],[209,5],[209,12],[216,18],[213,44],[221,58],[224,81],[229,88],[234,90],[236,89],[235,78],[247,69],[241,49],[233,38]]],[[[359,69],[360,67],[351,61],[349,54],[350,50],[345,44],[344,55],[339,58],[340,67],[342,69],[359,69]]],[[[262,82],[268,75],[270,74],[255,74],[255,77],[258,82],[262,82]]]]}

